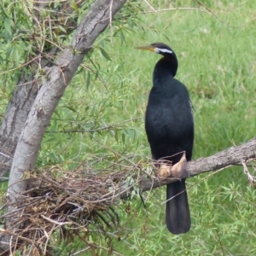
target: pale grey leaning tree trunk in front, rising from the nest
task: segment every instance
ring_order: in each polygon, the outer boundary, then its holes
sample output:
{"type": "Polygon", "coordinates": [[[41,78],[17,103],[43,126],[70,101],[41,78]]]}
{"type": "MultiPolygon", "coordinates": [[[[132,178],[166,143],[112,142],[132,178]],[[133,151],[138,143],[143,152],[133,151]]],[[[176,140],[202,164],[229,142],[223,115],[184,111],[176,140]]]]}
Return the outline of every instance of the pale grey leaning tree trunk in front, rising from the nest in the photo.
{"type": "MultiPolygon", "coordinates": [[[[15,149],[9,176],[8,200],[29,187],[27,182],[18,182],[25,172],[33,170],[44,131],[58,102],[73,78],[76,70],[90,51],[96,38],[105,30],[112,17],[123,7],[126,0],[98,0],[84,16],[74,33],[71,47],[63,50],[55,66],[45,68],[46,81],[38,91],[15,149]]],[[[8,211],[12,211],[12,207],[8,211]]],[[[12,230],[12,219],[6,219],[7,230],[12,230]]],[[[9,236],[2,236],[2,252],[9,250],[9,236]]],[[[0,253],[1,253],[0,249],[0,253]]]]}

